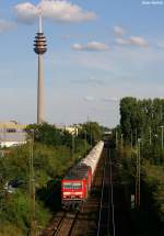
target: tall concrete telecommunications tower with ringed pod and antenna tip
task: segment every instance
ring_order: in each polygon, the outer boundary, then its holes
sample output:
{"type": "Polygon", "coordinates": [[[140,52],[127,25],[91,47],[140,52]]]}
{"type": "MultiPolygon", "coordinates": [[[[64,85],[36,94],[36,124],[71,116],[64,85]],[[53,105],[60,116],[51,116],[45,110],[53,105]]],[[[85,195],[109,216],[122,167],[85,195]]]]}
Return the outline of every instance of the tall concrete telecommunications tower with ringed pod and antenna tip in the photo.
{"type": "Polygon", "coordinates": [[[42,14],[39,13],[39,27],[34,41],[34,52],[38,55],[37,124],[42,124],[45,121],[43,55],[46,53],[46,37],[43,33],[42,14]]]}

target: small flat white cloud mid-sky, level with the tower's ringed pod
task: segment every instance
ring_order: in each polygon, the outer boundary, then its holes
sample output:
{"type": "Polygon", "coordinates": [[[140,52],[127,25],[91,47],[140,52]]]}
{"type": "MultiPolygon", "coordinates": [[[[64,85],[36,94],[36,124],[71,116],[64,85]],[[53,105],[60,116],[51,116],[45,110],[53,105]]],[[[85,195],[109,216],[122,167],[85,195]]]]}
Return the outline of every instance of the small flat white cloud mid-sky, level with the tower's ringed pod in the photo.
{"type": "Polygon", "coordinates": [[[75,50],[108,50],[108,45],[101,42],[90,42],[86,45],[73,44],[72,46],[75,50]]]}

